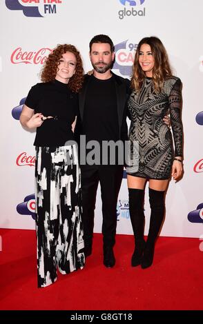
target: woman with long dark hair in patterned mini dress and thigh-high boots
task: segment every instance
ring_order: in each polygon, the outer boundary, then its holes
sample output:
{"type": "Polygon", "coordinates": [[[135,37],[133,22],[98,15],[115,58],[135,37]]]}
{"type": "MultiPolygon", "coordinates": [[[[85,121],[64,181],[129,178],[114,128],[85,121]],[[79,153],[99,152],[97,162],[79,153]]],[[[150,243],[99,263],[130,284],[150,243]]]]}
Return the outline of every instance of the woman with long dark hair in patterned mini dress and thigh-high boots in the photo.
{"type": "MultiPolygon", "coordinates": [[[[171,175],[178,181],[182,165],[182,83],[174,77],[164,45],[157,37],[139,42],[131,79],[133,92],[128,99],[131,114],[131,154],[133,141],[139,144],[139,166],[127,168],[129,212],[135,236],[131,265],[150,267],[155,241],[164,219],[164,198],[171,175]],[[169,110],[173,136],[162,119],[169,110]],[[173,141],[175,150],[173,150],[173,141]],[[149,181],[151,219],[144,241],[144,188],[149,181]]],[[[135,149],[135,145],[134,145],[135,149]]]]}

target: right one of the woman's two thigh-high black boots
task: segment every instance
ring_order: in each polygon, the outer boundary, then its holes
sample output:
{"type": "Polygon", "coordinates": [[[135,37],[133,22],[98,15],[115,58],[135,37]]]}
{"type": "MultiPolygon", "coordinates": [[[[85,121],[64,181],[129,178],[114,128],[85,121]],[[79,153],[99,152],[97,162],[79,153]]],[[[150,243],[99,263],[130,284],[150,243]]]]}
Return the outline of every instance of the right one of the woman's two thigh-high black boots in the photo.
{"type": "Polygon", "coordinates": [[[165,205],[164,205],[164,191],[157,191],[149,188],[149,202],[151,206],[151,219],[148,230],[148,238],[144,248],[142,257],[142,269],[150,267],[153,263],[155,241],[160,232],[162,222],[164,219],[165,205]]]}

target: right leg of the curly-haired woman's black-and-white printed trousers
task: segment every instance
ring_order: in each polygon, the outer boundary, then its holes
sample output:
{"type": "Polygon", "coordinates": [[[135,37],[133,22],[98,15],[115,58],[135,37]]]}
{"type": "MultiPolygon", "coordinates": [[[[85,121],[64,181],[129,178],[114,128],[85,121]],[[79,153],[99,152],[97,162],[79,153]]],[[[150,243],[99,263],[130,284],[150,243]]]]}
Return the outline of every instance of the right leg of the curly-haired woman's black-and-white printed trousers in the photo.
{"type": "Polygon", "coordinates": [[[57,185],[51,188],[57,205],[59,235],[56,259],[61,274],[68,274],[84,267],[84,240],[81,227],[81,183],[75,145],[62,146],[52,154],[52,179],[59,175],[57,185]]]}

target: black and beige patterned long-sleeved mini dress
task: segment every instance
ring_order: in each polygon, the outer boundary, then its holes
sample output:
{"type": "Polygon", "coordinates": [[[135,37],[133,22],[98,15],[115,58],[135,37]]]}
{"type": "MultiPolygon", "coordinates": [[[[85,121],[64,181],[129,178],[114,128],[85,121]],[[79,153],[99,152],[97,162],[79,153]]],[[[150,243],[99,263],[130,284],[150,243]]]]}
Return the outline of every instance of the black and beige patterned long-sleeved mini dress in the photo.
{"type": "Polygon", "coordinates": [[[142,89],[132,92],[128,99],[129,139],[131,143],[137,141],[139,144],[139,166],[136,172],[133,165],[127,168],[128,174],[146,179],[170,178],[173,157],[182,156],[181,88],[180,79],[170,77],[164,81],[162,91],[155,93],[152,79],[146,77],[142,89]],[[163,121],[168,111],[173,136],[163,121]]]}

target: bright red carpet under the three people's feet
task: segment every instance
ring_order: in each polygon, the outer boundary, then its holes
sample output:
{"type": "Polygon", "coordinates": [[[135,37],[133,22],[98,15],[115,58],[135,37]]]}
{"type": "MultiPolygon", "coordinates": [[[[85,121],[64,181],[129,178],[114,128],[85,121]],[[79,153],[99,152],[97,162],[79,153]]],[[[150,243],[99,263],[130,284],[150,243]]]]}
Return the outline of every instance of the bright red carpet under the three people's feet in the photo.
{"type": "Polygon", "coordinates": [[[200,240],[160,237],[152,267],[131,267],[133,236],[117,235],[116,265],[102,264],[102,240],[84,270],[59,274],[37,288],[36,239],[31,230],[0,230],[1,310],[202,310],[200,240]]]}

